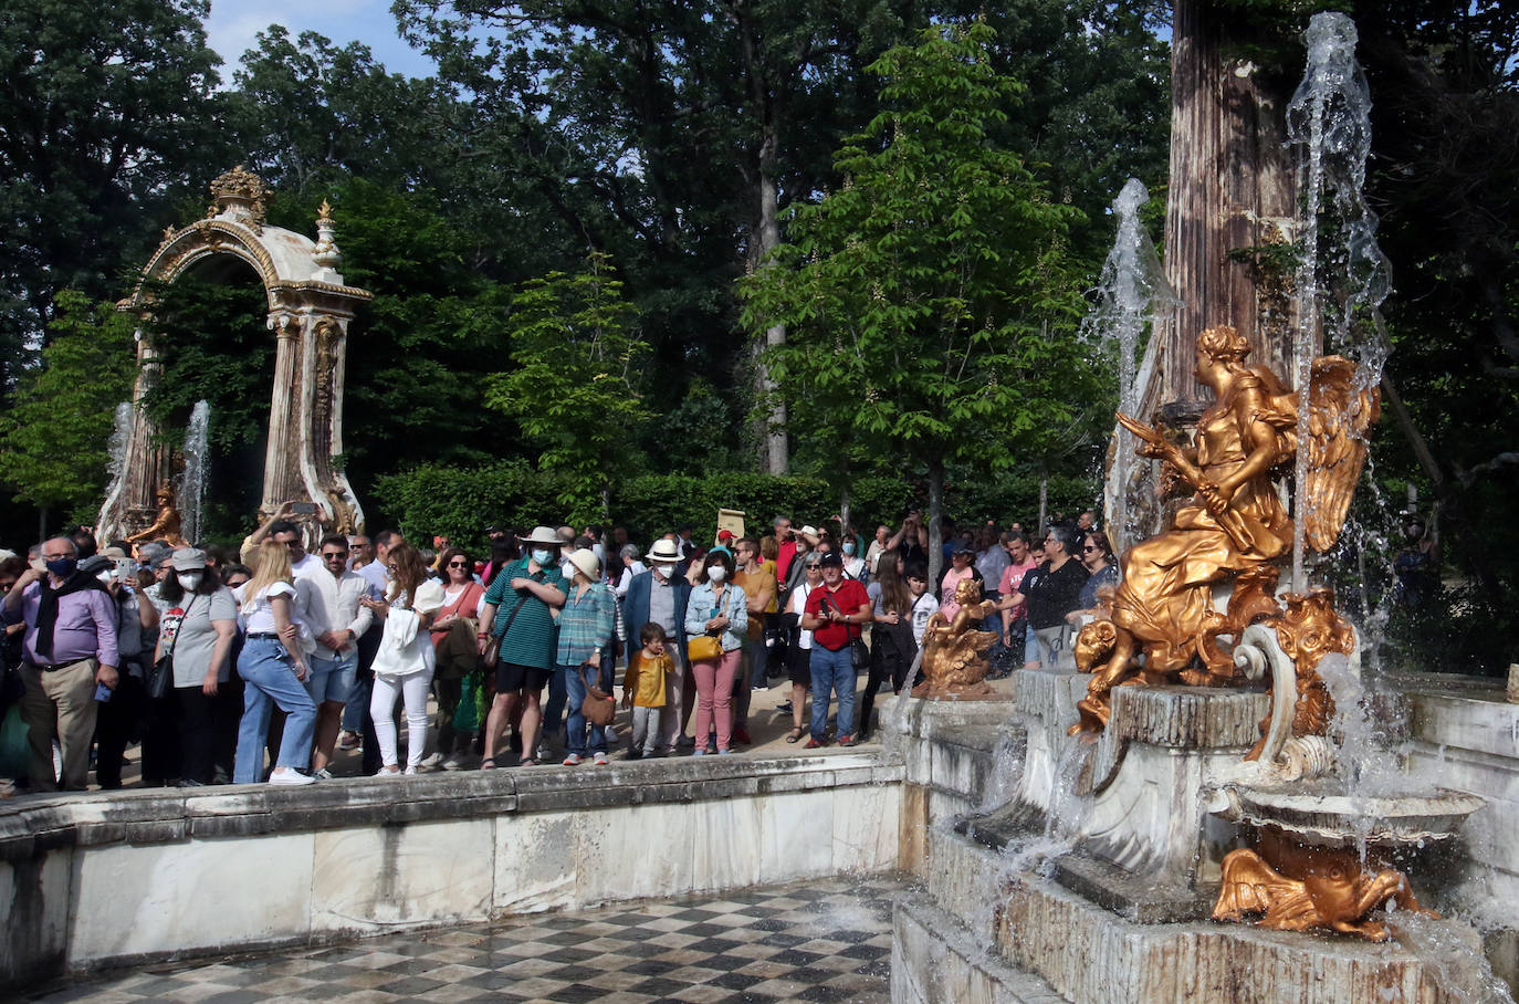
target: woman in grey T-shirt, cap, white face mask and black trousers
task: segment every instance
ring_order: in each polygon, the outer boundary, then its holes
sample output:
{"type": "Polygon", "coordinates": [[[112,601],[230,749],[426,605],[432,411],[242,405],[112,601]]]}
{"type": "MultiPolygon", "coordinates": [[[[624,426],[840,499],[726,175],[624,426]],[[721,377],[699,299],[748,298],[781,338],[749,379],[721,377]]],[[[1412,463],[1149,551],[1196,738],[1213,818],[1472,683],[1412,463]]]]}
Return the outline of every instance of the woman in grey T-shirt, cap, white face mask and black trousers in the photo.
{"type": "Polygon", "coordinates": [[[232,676],[237,600],[207,568],[205,551],[193,547],[175,551],[173,576],[164,579],[158,592],[172,605],[166,621],[179,618],[178,630],[172,638],[161,633],[153,653],[156,661],[167,646],[175,656],[170,700],[179,725],[179,782],[211,784],[222,738],[217,729],[226,726],[217,696],[232,676]]]}

